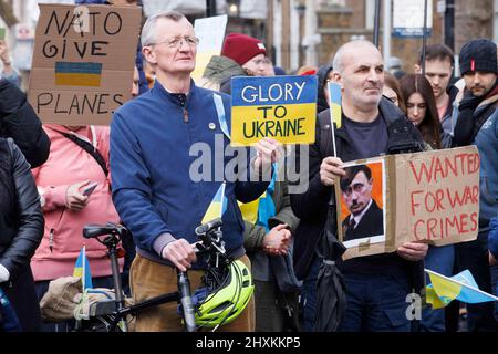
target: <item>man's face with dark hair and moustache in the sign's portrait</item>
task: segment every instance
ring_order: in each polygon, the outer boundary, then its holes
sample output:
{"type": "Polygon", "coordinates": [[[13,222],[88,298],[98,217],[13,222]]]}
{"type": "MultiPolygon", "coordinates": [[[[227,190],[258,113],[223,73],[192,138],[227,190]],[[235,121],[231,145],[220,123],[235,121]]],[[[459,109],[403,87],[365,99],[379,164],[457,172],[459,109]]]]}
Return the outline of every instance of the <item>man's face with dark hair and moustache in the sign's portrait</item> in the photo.
{"type": "MultiPolygon", "coordinates": [[[[367,167],[364,166],[366,169],[367,167]]],[[[346,176],[341,179],[342,196],[352,215],[359,215],[372,199],[372,175],[370,169],[346,169],[346,176]],[[347,174],[350,171],[350,174],[347,174]],[[354,174],[354,175],[353,175],[354,174]],[[369,176],[367,176],[369,175],[369,176]],[[352,179],[351,179],[352,178],[352,179]]]]}

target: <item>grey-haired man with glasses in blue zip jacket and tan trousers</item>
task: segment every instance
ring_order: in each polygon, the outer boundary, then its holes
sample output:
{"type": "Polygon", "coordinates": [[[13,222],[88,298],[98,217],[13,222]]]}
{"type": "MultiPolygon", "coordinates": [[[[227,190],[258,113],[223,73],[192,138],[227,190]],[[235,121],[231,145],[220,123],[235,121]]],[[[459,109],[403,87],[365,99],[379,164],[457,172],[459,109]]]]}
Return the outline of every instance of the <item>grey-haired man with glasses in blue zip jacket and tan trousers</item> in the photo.
{"type": "MultiPolygon", "coordinates": [[[[249,263],[237,199],[248,202],[267,189],[271,177],[266,181],[259,181],[259,177],[271,175],[277,157],[277,142],[267,138],[256,145],[258,154],[250,167],[242,158],[241,169],[246,171],[237,170],[242,178],[219,177],[231,158],[224,154],[229,145],[229,96],[194,84],[190,73],[197,44],[194,28],[181,13],[167,11],[148,18],[142,46],[145,60],[155,70],[156,83],[149,92],[120,107],[111,126],[113,200],[137,247],[131,287],[138,302],[177,291],[175,267],[180,271],[193,268],[190,283],[193,289],[198,287],[204,271],[196,262],[194,230],[224,179],[228,200],[221,227],[225,246],[234,259],[249,263]],[[199,160],[196,150],[206,148],[209,163],[203,165],[200,174],[215,178],[194,176],[199,160]],[[255,177],[257,181],[252,181],[255,177]]],[[[251,331],[253,317],[250,301],[225,330],[251,331]]],[[[136,320],[137,331],[181,330],[176,303],[142,312],[136,320]]]]}

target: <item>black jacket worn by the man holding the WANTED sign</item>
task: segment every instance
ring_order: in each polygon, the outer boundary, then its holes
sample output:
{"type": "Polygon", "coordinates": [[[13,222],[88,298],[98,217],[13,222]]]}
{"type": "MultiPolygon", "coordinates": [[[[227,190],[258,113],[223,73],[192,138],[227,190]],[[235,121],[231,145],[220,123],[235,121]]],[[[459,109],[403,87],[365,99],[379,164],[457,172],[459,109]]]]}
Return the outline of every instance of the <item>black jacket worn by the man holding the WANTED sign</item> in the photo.
{"type": "MultiPolygon", "coordinates": [[[[383,97],[380,103],[382,118],[387,126],[388,147],[386,153],[395,150],[409,149],[411,147],[421,147],[423,138],[412,122],[406,118],[402,111],[391,101],[383,97]]],[[[291,195],[291,206],[294,215],[300,218],[300,225],[295,231],[294,238],[294,269],[298,279],[304,279],[308,273],[317,244],[325,225],[329,201],[331,199],[332,188],[325,187],[320,181],[320,165],[326,156],[332,155],[332,148],[323,148],[320,144],[332,142],[330,126],[328,131],[322,131],[320,122],[330,122],[330,110],[319,114],[317,119],[315,143],[310,145],[309,150],[309,188],[303,194],[291,195]],[[326,136],[321,136],[326,132],[326,136]],[[328,152],[328,153],[324,153],[328,152]]],[[[343,127],[335,128],[335,146],[338,156],[343,162],[355,160],[360,156],[354,150],[353,145],[343,127]]],[[[297,149],[297,158],[300,158],[300,149],[297,149]]],[[[298,163],[299,166],[299,163],[298,163]]]]}

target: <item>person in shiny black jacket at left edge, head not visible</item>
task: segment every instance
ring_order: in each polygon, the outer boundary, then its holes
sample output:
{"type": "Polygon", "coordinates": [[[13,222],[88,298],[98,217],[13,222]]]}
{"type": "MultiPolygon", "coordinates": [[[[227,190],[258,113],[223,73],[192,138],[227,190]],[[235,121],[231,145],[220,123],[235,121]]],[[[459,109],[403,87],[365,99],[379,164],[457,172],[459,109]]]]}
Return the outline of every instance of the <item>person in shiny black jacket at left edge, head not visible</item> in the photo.
{"type": "MultiPolygon", "coordinates": [[[[0,138],[0,289],[19,319],[18,330],[28,332],[39,331],[41,324],[30,260],[43,236],[43,222],[30,165],[11,138],[0,138]]],[[[8,330],[3,321],[0,332],[8,330]]]]}

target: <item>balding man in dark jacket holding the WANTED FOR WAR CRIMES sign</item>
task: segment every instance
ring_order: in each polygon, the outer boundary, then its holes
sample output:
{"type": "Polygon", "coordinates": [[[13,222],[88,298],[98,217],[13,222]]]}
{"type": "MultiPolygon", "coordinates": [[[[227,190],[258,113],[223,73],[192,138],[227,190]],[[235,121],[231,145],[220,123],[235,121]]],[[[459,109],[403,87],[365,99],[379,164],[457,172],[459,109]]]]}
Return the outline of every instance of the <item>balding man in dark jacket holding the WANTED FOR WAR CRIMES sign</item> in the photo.
{"type": "MultiPolygon", "coordinates": [[[[314,282],[320,260],[315,254],[323,231],[335,178],[344,176],[343,160],[369,158],[412,146],[421,147],[422,137],[403,113],[382,98],[384,62],[378,50],[367,41],[341,46],[333,60],[333,80],[343,90],[340,126],[335,125],[338,156],[324,152],[321,142],[331,142],[330,125],[317,129],[317,142],[310,147],[309,188],[291,195],[292,210],[301,219],[295,235],[294,263],[304,279],[305,321],[314,320],[314,282]],[[307,315],[308,313],[308,315],[307,315]]],[[[319,122],[329,115],[324,111],[319,122]]],[[[330,121],[329,121],[330,122],[330,121]]],[[[299,156],[299,154],[298,154],[299,156]]],[[[299,156],[301,158],[301,156],[299,156]]],[[[328,227],[329,228],[329,227],[328,227]]],[[[336,225],[330,229],[336,229],[336,225]]],[[[406,295],[412,293],[413,262],[422,260],[427,244],[407,242],[397,252],[361,257],[341,264],[346,283],[346,313],[341,331],[409,331],[406,295]],[[388,301],[386,301],[388,299],[388,301]]]]}

